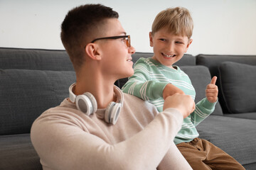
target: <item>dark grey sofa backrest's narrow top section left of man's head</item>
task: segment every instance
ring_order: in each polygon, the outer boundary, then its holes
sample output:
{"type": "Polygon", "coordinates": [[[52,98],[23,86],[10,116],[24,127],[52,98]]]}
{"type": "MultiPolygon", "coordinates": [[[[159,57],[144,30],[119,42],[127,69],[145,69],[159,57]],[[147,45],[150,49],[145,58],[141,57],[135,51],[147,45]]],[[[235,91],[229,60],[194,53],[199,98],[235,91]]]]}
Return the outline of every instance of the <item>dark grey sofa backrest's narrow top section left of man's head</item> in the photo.
{"type": "Polygon", "coordinates": [[[65,50],[0,47],[0,69],[73,71],[65,50]]]}

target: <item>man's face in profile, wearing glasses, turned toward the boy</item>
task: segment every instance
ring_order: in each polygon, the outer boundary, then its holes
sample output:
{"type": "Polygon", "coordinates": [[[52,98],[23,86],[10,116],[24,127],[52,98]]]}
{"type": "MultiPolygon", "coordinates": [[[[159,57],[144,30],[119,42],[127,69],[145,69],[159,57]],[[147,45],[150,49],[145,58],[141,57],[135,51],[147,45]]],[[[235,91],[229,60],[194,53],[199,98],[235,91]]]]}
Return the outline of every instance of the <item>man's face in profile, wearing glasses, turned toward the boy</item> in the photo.
{"type": "MultiPolygon", "coordinates": [[[[126,35],[124,28],[122,28],[117,18],[107,19],[103,31],[103,37],[126,35]]],[[[134,74],[132,54],[135,52],[135,49],[132,46],[127,47],[124,38],[98,40],[97,43],[100,43],[102,72],[106,74],[106,77],[116,76],[117,79],[122,79],[131,77],[134,74]]]]}

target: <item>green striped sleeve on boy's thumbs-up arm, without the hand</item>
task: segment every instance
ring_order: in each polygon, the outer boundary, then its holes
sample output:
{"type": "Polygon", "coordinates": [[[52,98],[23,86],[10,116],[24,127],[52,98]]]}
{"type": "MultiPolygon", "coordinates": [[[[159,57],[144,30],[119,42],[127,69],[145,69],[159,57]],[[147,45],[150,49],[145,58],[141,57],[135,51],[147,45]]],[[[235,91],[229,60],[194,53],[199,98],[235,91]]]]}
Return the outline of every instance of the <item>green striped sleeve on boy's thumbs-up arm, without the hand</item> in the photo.
{"type": "Polygon", "coordinates": [[[217,101],[215,103],[210,103],[207,98],[203,98],[201,101],[196,103],[196,109],[191,113],[191,121],[197,126],[201,121],[213,113],[217,101]]]}

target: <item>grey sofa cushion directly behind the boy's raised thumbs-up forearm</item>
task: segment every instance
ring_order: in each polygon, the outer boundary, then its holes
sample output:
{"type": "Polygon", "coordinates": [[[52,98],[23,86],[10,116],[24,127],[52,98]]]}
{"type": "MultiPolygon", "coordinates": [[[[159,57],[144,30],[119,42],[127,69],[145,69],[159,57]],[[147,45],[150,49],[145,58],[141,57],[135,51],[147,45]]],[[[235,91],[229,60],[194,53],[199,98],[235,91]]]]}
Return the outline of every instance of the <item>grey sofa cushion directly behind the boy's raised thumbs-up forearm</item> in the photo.
{"type": "MultiPolygon", "coordinates": [[[[204,66],[182,66],[181,69],[188,74],[196,90],[195,102],[201,101],[201,99],[206,97],[206,86],[210,84],[211,80],[208,68],[204,66]]],[[[216,103],[212,115],[223,115],[219,102],[216,103]]]]}

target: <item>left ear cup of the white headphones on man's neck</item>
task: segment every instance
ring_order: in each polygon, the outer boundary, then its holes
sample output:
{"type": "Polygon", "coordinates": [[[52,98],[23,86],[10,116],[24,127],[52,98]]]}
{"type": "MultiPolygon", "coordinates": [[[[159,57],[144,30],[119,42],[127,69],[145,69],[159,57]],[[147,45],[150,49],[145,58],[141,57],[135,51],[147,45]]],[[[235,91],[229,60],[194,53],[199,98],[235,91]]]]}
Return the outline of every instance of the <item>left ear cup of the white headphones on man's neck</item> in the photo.
{"type": "Polygon", "coordinates": [[[90,94],[89,92],[78,95],[75,98],[75,104],[77,108],[86,115],[90,115],[97,111],[97,101],[95,97],[92,96],[92,94],[90,94]]]}

